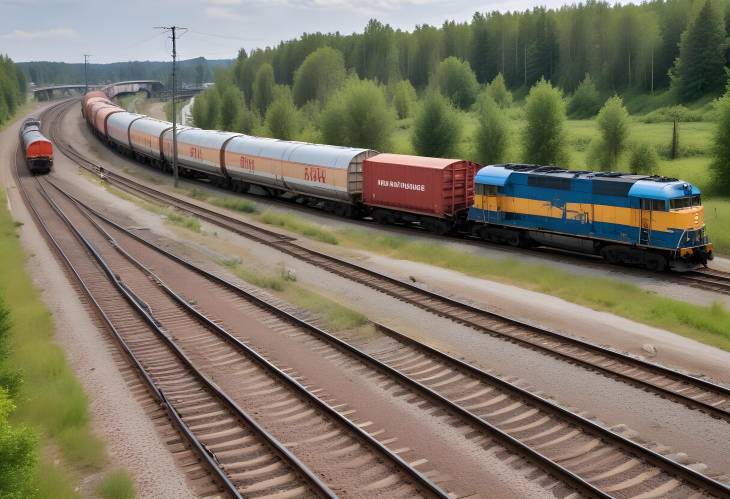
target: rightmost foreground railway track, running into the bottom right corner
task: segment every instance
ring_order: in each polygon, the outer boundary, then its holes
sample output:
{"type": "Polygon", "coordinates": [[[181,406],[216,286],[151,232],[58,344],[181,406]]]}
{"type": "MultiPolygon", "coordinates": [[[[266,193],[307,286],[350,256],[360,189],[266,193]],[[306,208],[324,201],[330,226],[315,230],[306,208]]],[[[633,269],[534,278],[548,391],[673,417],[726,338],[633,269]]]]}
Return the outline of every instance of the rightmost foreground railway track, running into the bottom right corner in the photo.
{"type": "MultiPolygon", "coordinates": [[[[470,433],[468,438],[482,438],[484,434],[497,438],[506,447],[532,460],[543,471],[562,479],[584,495],[686,496],[705,492],[721,497],[730,493],[730,489],[713,478],[382,325],[376,326],[387,339],[377,342],[374,348],[368,346],[371,342],[358,347],[353,342],[334,337],[262,301],[249,291],[161,249],[159,245],[125,229],[80,200],[75,201],[105,224],[106,230],[111,231],[109,237],[119,244],[137,247],[135,253],[144,246],[148,252],[153,251],[175,261],[180,268],[169,268],[168,275],[194,272],[200,282],[188,278],[186,295],[194,293],[196,288],[205,289],[206,284],[213,285],[221,292],[216,302],[237,309],[253,302],[267,309],[287,322],[289,327],[296,326],[297,329],[288,334],[303,332],[316,339],[317,343],[322,343],[321,347],[318,344],[310,347],[323,356],[331,358],[339,353],[343,358],[349,356],[391,376],[477,430],[477,433],[470,433]],[[329,349],[324,350],[327,347],[329,349]],[[365,351],[368,348],[372,350],[369,353],[365,351]]],[[[155,268],[165,265],[159,259],[152,258],[150,261],[155,268]]],[[[213,289],[208,287],[206,294],[209,293],[213,293],[213,289]]],[[[200,303],[200,306],[205,306],[205,303],[200,303]]]]}

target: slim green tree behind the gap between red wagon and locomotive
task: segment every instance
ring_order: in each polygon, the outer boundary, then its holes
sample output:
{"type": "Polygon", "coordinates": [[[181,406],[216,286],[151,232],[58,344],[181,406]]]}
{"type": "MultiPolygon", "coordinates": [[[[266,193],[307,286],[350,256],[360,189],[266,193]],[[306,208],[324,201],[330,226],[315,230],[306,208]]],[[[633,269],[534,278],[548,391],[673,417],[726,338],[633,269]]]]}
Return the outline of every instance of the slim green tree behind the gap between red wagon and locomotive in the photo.
{"type": "Polygon", "coordinates": [[[479,96],[477,108],[479,125],[474,133],[476,159],[483,165],[502,163],[509,137],[507,119],[486,92],[479,96]]]}

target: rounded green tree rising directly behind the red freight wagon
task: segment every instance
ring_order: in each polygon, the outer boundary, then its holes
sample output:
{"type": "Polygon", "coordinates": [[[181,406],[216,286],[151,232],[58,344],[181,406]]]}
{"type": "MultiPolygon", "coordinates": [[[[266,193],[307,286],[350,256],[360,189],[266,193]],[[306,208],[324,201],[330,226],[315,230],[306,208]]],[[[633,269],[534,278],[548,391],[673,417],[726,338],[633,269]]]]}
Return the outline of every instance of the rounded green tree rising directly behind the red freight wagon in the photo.
{"type": "Polygon", "coordinates": [[[461,118],[451,103],[440,94],[429,93],[413,123],[411,142],[416,153],[436,158],[458,156],[461,133],[461,118]]]}

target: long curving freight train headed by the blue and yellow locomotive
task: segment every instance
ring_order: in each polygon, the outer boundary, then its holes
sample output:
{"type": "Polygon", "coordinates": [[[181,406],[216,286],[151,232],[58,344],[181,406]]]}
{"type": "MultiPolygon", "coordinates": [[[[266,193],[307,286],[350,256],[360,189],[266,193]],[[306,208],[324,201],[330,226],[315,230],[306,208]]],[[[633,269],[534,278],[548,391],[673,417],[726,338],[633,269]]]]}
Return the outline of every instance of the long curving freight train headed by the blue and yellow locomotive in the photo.
{"type": "MultiPolygon", "coordinates": [[[[118,151],[171,171],[172,123],[128,113],[102,92],[82,114],[118,151]]],[[[340,216],[418,224],[512,246],[549,246],[661,271],[706,265],[697,187],[665,177],[383,154],[180,126],[180,175],[252,186],[340,216]]]]}

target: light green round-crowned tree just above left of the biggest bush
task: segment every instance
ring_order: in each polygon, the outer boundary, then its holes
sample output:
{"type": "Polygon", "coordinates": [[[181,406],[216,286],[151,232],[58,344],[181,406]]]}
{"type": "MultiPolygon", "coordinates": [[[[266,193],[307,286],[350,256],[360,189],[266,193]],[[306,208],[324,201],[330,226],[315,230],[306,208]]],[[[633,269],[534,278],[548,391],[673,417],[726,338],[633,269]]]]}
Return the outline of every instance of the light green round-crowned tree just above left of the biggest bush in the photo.
{"type": "Polygon", "coordinates": [[[318,48],[294,73],[294,102],[299,107],[310,100],[324,104],[327,97],[342,86],[346,76],[342,52],[331,47],[318,48]]]}

